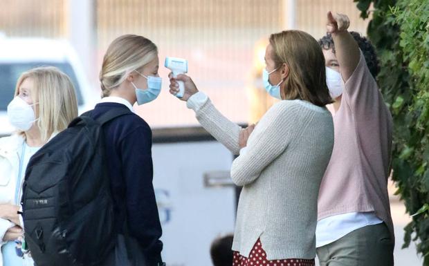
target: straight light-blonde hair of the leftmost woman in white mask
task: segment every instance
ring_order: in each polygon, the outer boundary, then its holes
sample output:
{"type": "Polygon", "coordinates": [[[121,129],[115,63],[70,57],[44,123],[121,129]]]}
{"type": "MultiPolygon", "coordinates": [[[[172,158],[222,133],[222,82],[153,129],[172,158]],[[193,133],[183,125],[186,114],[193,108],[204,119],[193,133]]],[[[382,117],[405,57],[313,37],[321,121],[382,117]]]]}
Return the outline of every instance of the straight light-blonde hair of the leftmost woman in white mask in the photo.
{"type": "MultiPolygon", "coordinates": [[[[36,110],[42,140],[47,141],[52,133],[67,128],[71,120],[77,117],[77,99],[75,88],[69,76],[53,66],[30,69],[21,74],[15,88],[15,96],[19,95],[19,87],[25,79],[33,79],[31,91],[33,102],[39,103],[36,110]],[[37,96],[37,97],[36,97],[37,96]]],[[[20,132],[24,134],[24,132],[20,132]]]]}

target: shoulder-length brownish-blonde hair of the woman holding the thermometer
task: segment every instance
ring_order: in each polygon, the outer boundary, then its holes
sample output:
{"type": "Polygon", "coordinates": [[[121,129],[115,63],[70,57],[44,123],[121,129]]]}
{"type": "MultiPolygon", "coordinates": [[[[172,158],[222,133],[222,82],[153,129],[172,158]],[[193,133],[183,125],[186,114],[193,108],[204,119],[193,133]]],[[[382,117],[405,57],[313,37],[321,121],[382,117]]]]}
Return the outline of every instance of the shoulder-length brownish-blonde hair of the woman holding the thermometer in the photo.
{"type": "Polygon", "coordinates": [[[332,103],[326,84],[325,57],[316,39],[307,32],[285,30],[271,35],[270,44],[276,67],[289,67],[282,99],[304,99],[317,106],[332,103]]]}

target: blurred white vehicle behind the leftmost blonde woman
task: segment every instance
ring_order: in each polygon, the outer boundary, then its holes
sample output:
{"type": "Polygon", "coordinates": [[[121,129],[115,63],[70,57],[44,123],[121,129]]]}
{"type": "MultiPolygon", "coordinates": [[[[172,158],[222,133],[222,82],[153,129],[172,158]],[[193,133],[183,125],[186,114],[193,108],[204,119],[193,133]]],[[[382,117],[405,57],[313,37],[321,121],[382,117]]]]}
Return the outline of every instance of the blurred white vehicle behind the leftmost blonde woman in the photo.
{"type": "Polygon", "coordinates": [[[10,135],[15,130],[8,121],[6,109],[19,75],[37,66],[55,66],[69,75],[75,86],[79,113],[93,108],[97,97],[68,41],[0,35],[0,136],[10,135]]]}

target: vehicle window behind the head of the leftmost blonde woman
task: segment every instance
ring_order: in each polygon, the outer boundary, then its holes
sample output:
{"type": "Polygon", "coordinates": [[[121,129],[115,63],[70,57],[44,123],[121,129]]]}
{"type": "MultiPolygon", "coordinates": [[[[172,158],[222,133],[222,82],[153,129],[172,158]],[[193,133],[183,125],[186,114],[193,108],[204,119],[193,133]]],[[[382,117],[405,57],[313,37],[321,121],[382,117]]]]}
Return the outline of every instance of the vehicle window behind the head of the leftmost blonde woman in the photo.
{"type": "Polygon", "coordinates": [[[70,77],[71,82],[73,82],[73,86],[75,86],[77,105],[81,106],[84,104],[81,88],[77,82],[75,72],[69,63],[0,63],[0,111],[6,111],[9,102],[12,100],[19,75],[24,71],[37,66],[55,66],[60,68],[60,70],[70,77]]]}

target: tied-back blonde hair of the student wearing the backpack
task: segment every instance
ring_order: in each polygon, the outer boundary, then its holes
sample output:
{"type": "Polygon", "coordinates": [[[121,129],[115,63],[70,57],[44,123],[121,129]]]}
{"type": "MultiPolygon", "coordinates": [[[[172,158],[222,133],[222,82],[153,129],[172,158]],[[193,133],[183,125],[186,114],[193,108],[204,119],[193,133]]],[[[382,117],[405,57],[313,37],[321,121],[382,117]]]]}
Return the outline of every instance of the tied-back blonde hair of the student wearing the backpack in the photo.
{"type": "Polygon", "coordinates": [[[102,97],[109,96],[131,71],[145,66],[157,55],[156,45],[143,36],[122,35],[112,41],[100,71],[102,97]]]}

